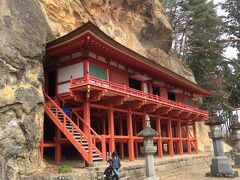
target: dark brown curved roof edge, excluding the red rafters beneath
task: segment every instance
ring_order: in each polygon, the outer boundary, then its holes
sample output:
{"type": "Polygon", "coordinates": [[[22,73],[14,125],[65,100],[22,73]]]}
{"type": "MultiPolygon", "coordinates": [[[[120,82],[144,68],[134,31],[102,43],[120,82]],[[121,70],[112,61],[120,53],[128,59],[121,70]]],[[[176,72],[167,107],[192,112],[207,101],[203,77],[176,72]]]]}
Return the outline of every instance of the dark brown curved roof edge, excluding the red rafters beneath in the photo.
{"type": "Polygon", "coordinates": [[[60,46],[63,46],[66,43],[70,43],[72,41],[77,40],[83,35],[90,35],[92,38],[97,39],[100,41],[103,45],[109,46],[110,48],[114,49],[117,52],[120,52],[124,54],[124,56],[127,56],[128,58],[131,58],[137,63],[140,63],[142,67],[153,70],[154,73],[156,73],[159,76],[165,77],[165,79],[170,80],[173,85],[177,85],[183,89],[187,89],[191,91],[192,93],[203,95],[203,96],[211,96],[211,93],[197,84],[189,81],[188,79],[179,76],[178,74],[170,71],[169,69],[161,66],[160,64],[157,64],[151,59],[148,59],[135,51],[123,46],[122,44],[118,43],[111,37],[109,37],[107,34],[105,34],[103,31],[101,31],[97,26],[95,26],[92,22],[88,22],[84,24],[83,26],[77,28],[76,30],[54,40],[51,42],[48,42],[46,45],[47,53],[52,52],[56,49],[58,49],[60,46]]]}

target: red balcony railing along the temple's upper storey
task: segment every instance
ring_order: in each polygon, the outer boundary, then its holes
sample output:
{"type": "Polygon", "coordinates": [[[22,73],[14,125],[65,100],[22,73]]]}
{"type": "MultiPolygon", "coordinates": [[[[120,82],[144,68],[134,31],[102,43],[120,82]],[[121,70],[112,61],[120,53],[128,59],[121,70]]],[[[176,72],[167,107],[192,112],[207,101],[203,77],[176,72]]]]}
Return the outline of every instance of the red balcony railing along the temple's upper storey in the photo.
{"type": "Polygon", "coordinates": [[[160,103],[160,104],[163,104],[163,105],[167,105],[167,106],[171,106],[171,107],[174,107],[174,108],[185,109],[185,110],[188,110],[188,111],[195,111],[197,113],[203,114],[204,116],[208,114],[207,111],[204,111],[204,110],[198,109],[196,107],[192,107],[192,106],[183,104],[181,102],[171,101],[169,99],[160,97],[158,95],[154,95],[154,94],[151,94],[151,93],[145,93],[143,91],[139,91],[139,90],[130,88],[126,85],[121,85],[121,84],[118,84],[118,83],[106,81],[106,80],[99,79],[99,78],[96,78],[96,77],[92,77],[92,76],[89,76],[89,75],[87,75],[85,77],[82,77],[82,78],[78,78],[78,79],[71,79],[70,80],[70,89],[71,88],[76,88],[76,87],[79,87],[79,86],[84,86],[84,85],[87,85],[87,84],[100,86],[102,88],[106,88],[106,89],[109,89],[111,91],[115,91],[115,92],[118,92],[118,93],[126,93],[126,94],[131,95],[131,96],[135,96],[135,97],[138,97],[138,98],[143,98],[143,99],[146,99],[146,100],[154,101],[154,102],[157,102],[157,103],[160,103]]]}

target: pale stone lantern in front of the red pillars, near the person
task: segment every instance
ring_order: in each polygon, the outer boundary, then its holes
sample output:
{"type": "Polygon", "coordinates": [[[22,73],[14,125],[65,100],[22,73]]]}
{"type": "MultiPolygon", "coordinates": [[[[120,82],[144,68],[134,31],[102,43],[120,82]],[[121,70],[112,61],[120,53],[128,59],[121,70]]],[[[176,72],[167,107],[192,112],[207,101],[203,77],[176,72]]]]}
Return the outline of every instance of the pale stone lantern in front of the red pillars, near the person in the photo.
{"type": "Polygon", "coordinates": [[[148,115],[145,117],[146,127],[137,134],[144,139],[144,145],[141,147],[141,152],[145,155],[146,176],[148,180],[156,180],[155,167],[154,167],[154,153],[157,152],[157,147],[153,144],[153,137],[160,134],[151,128],[150,118],[148,115]]]}

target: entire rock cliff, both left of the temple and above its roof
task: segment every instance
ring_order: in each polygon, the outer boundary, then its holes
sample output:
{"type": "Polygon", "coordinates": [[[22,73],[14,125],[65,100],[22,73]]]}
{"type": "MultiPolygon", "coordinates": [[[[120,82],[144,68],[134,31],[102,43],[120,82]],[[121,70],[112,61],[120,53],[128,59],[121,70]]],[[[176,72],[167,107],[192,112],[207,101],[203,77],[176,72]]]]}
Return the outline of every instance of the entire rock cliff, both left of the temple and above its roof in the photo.
{"type": "Polygon", "coordinates": [[[0,1],[0,179],[42,166],[44,44],[87,21],[136,52],[194,81],[171,58],[172,34],[158,0],[0,1]]]}

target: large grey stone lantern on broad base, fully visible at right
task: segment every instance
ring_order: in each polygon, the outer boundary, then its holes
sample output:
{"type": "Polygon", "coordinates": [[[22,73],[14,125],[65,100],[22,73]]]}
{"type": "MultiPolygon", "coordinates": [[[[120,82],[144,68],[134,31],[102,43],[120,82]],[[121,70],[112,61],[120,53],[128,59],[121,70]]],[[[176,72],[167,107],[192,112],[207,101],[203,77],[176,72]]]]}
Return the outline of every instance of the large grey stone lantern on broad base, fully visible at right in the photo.
{"type": "Polygon", "coordinates": [[[217,116],[217,111],[212,111],[212,116],[205,122],[210,126],[209,137],[213,141],[214,157],[212,158],[212,164],[210,165],[211,172],[206,176],[214,177],[236,177],[238,173],[232,170],[232,166],[229,164],[227,156],[224,155],[223,143],[222,143],[222,130],[221,124],[224,124],[222,117],[217,116]]]}

